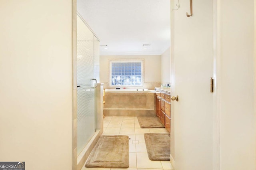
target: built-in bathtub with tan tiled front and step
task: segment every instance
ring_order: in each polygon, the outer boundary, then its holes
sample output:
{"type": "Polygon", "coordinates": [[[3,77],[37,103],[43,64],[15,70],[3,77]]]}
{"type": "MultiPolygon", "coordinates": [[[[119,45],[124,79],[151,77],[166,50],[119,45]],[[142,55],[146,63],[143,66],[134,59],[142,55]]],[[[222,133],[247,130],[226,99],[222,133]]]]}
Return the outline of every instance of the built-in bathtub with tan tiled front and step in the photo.
{"type": "Polygon", "coordinates": [[[105,89],[105,116],[155,116],[156,91],[148,89],[105,89]]]}

